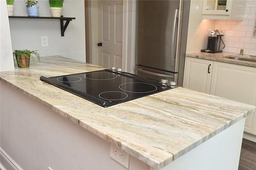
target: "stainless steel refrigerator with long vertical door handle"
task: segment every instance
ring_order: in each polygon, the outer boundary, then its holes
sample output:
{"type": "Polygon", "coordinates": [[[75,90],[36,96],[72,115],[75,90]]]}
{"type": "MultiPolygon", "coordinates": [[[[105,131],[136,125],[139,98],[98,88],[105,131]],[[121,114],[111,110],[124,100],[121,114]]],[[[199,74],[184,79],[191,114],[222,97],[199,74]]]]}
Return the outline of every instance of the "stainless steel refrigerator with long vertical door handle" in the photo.
{"type": "Polygon", "coordinates": [[[138,0],[136,74],[183,83],[190,1],[138,0]]]}

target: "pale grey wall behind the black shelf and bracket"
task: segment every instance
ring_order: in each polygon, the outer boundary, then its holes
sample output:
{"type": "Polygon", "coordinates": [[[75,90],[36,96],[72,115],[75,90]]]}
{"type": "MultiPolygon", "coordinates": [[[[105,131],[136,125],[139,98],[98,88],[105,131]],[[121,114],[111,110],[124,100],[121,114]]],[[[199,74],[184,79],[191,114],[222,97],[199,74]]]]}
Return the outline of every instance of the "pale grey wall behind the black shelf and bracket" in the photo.
{"type": "MultiPolygon", "coordinates": [[[[51,16],[48,0],[38,0],[39,16],[51,16]]],[[[60,35],[60,22],[53,19],[10,19],[13,50],[38,50],[41,56],[61,55],[86,61],[85,19],[83,0],[65,0],[63,16],[75,17],[65,36],[60,35]],[[48,36],[49,47],[41,47],[41,36],[48,36]]],[[[14,15],[27,16],[25,1],[14,2],[14,15]]]]}

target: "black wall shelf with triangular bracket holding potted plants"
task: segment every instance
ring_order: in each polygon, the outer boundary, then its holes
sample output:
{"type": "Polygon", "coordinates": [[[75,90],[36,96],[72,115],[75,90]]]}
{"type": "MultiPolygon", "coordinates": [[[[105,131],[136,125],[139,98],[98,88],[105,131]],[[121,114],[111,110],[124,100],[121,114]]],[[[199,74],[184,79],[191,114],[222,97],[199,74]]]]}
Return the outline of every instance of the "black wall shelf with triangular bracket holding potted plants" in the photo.
{"type": "Polygon", "coordinates": [[[69,25],[69,22],[72,21],[72,19],[76,19],[73,17],[48,17],[48,16],[9,16],[9,18],[15,18],[15,19],[59,19],[60,20],[60,32],[61,36],[64,36],[64,33],[69,25]],[[65,24],[64,24],[64,21],[65,24]]]}

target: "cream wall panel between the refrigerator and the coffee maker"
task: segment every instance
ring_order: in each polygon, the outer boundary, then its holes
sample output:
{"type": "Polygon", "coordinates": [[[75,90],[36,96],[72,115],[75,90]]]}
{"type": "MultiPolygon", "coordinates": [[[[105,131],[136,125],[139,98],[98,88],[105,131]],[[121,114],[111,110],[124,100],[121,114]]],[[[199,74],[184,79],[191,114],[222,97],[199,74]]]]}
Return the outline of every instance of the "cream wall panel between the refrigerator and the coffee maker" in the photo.
{"type": "Polygon", "coordinates": [[[203,19],[202,0],[191,0],[186,53],[199,52],[207,47],[209,29],[215,28],[215,20],[203,19]]]}

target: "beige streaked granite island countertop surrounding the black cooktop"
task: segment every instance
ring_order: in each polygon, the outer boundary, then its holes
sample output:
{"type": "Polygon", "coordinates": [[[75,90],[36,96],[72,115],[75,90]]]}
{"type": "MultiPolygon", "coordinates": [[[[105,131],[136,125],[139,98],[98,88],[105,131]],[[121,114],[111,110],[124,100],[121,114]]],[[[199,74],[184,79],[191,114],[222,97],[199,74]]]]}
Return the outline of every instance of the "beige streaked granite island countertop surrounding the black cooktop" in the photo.
{"type": "Polygon", "coordinates": [[[162,168],[254,112],[255,107],[178,87],[103,108],[39,80],[102,67],[59,56],[0,80],[154,168],[162,168]]]}

